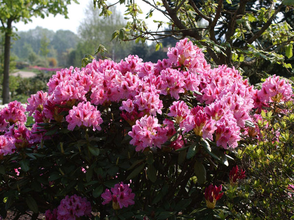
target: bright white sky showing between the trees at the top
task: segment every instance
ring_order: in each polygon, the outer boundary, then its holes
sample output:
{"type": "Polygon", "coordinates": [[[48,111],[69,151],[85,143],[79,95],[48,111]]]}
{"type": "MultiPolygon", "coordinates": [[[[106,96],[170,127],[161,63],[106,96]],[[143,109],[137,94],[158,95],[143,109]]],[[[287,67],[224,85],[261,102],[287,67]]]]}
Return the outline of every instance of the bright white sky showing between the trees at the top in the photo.
{"type": "MultiPolygon", "coordinates": [[[[49,15],[49,17],[46,17],[45,19],[42,19],[40,17],[33,17],[32,22],[24,23],[24,22],[18,22],[15,23],[14,26],[17,27],[18,31],[27,31],[29,29],[34,29],[36,26],[41,26],[43,28],[47,28],[49,30],[57,31],[57,30],[71,30],[74,33],[77,33],[78,26],[80,22],[86,17],[85,16],[85,9],[87,8],[87,5],[89,4],[88,0],[79,0],[79,4],[72,3],[68,6],[68,17],[69,19],[65,19],[64,16],[56,15],[55,17],[53,15],[49,15]]],[[[93,0],[90,0],[90,3],[93,4],[93,0]]],[[[140,5],[140,8],[143,10],[143,12],[147,12],[150,9],[150,6],[140,1],[138,3],[140,5]]],[[[119,6],[118,8],[121,9],[122,13],[125,11],[124,8],[122,8],[123,5],[119,6]]],[[[144,19],[146,17],[146,13],[144,13],[141,16],[141,19],[144,19]]],[[[154,24],[153,20],[162,20],[162,21],[168,21],[165,16],[163,16],[160,12],[153,12],[153,17],[149,18],[146,22],[148,24],[148,27],[151,30],[157,29],[157,24],[154,24]]]]}

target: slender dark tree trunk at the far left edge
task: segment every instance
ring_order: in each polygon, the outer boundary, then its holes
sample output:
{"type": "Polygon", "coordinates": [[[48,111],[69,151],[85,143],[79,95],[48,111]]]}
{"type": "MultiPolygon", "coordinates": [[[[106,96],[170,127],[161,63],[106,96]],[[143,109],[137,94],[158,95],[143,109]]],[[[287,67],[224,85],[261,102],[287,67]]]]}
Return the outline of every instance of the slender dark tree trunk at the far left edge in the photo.
{"type": "Polygon", "coordinates": [[[5,42],[4,42],[4,71],[2,84],[2,104],[9,103],[9,63],[10,63],[10,40],[11,40],[11,23],[8,19],[7,27],[5,28],[5,42]]]}

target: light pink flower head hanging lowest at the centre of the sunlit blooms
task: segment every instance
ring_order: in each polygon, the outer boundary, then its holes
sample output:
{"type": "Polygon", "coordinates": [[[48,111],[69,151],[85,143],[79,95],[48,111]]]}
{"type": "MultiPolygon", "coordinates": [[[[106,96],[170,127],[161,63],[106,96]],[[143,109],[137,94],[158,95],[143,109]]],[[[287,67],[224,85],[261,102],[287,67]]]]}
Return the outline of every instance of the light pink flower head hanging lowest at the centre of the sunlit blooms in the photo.
{"type": "Polygon", "coordinates": [[[133,138],[130,144],[136,146],[136,151],[144,151],[148,146],[161,148],[161,144],[167,141],[166,133],[157,118],[145,115],[136,121],[128,135],[133,138]]]}

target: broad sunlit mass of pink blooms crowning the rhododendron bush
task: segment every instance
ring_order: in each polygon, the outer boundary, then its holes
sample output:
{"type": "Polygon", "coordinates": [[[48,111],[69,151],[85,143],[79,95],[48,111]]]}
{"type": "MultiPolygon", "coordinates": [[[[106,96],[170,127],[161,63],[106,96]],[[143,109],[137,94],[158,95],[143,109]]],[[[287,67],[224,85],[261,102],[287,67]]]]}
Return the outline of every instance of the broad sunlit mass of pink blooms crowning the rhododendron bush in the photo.
{"type": "MultiPolygon", "coordinates": [[[[161,148],[171,137],[172,127],[184,135],[194,132],[209,138],[224,149],[235,148],[241,131],[246,130],[245,122],[252,121],[252,108],[292,95],[291,86],[277,76],[254,90],[234,67],[211,68],[201,49],[188,39],[169,48],[168,59],[156,64],[133,55],[120,63],[93,60],[81,69],[57,71],[47,85],[48,92],[39,91],[28,99],[27,111],[35,119],[29,143],[46,138],[38,123],[67,121],[69,130],[76,126],[100,130],[99,110],[116,102],[122,119],[132,126],[129,135],[137,151],[161,148]],[[193,107],[182,99],[188,92],[198,103],[193,107]],[[171,106],[168,99],[173,101],[171,106]],[[169,125],[162,114],[168,109],[169,125]]],[[[0,117],[0,128],[8,121],[0,117]]],[[[178,141],[175,148],[185,142],[178,141]]]]}

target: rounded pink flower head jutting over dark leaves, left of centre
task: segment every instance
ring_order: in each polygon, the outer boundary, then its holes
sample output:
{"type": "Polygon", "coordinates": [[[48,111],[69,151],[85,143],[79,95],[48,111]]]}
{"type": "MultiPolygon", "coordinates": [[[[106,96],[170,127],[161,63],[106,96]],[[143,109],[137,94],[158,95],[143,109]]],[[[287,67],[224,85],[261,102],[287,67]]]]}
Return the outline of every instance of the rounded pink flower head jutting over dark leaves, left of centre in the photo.
{"type": "Polygon", "coordinates": [[[91,105],[90,102],[81,102],[76,106],[73,106],[73,109],[69,111],[69,115],[66,116],[66,121],[69,123],[68,129],[73,131],[75,126],[85,127],[93,126],[93,131],[96,129],[101,130],[100,124],[103,122],[100,117],[100,111],[97,110],[97,107],[91,105]]]}

